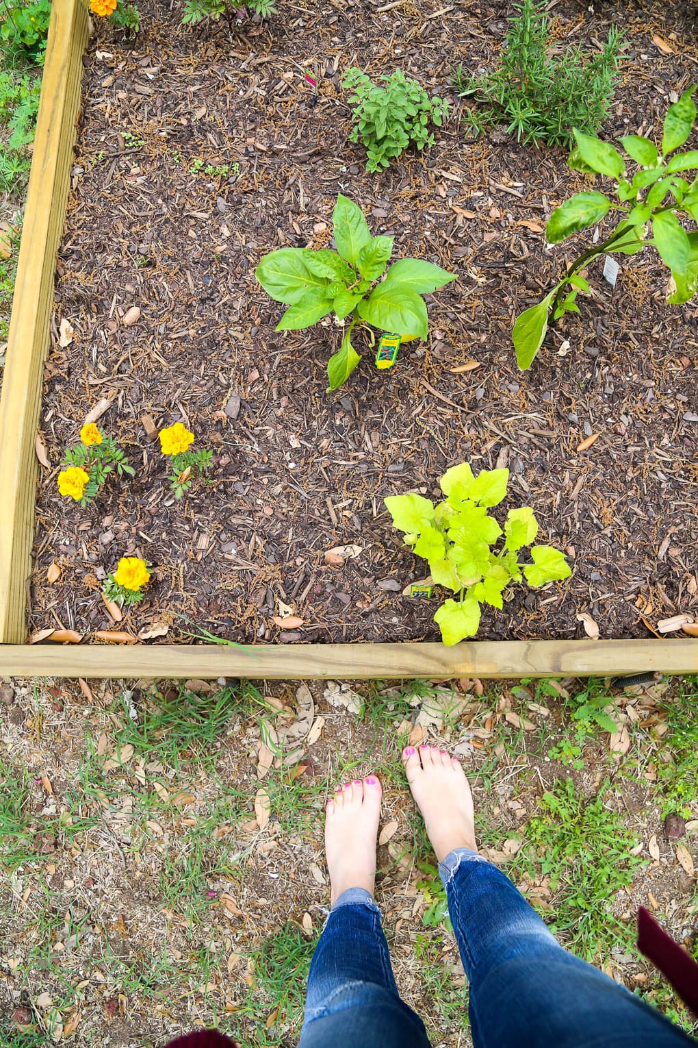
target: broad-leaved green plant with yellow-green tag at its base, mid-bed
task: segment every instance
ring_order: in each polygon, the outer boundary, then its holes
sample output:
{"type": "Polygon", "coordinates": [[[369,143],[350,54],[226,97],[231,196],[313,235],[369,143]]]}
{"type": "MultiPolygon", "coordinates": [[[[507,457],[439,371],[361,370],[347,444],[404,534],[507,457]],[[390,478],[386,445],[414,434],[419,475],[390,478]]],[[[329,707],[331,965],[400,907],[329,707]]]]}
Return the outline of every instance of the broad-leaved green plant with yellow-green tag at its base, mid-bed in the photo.
{"type": "Polygon", "coordinates": [[[404,342],[426,339],[427,307],[421,296],[456,279],[420,259],[400,259],[385,272],[392,237],[371,237],[361,209],[341,193],[332,220],[336,252],[282,247],[265,255],[255,270],[265,291],[289,306],[277,331],[312,327],[333,312],[339,321],[351,315],[341,347],[328,363],[328,392],[345,383],[361,359],[351,342],[359,322],[404,342]]]}

